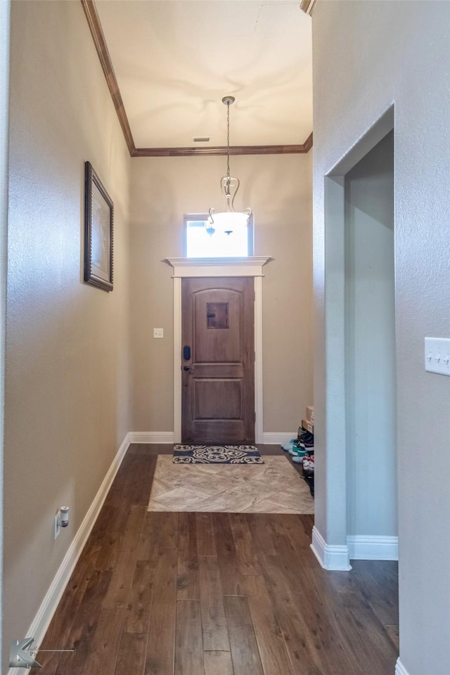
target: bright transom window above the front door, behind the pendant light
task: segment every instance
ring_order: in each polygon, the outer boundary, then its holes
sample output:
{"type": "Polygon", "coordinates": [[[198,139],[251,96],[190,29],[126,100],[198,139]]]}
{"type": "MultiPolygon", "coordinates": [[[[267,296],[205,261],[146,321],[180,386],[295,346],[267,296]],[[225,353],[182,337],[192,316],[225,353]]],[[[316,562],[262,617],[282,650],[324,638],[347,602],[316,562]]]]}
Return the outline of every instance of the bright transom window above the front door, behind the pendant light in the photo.
{"type": "Polygon", "coordinates": [[[253,255],[253,215],[247,227],[226,234],[215,231],[208,234],[205,223],[207,213],[188,214],[184,217],[184,236],[187,258],[229,258],[253,255]]]}

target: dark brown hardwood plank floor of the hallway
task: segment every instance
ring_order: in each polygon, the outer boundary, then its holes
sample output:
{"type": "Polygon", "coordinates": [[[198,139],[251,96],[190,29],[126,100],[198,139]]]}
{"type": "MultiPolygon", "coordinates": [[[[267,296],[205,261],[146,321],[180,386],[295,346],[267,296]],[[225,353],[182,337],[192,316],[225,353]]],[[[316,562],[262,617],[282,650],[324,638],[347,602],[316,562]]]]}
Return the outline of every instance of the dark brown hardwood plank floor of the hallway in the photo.
{"type": "Polygon", "coordinates": [[[166,451],[130,446],[41,644],[75,652],[43,675],[394,674],[396,563],[324,571],[310,515],[148,513],[166,451]]]}

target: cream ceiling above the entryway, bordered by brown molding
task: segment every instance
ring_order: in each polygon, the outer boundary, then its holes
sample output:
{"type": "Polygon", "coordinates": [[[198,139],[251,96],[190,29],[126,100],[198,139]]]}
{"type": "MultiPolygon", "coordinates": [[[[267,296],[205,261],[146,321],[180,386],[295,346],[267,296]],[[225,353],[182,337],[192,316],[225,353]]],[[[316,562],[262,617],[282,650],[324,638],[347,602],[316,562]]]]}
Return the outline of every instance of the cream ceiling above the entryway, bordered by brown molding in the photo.
{"type": "Polygon", "coordinates": [[[304,143],[311,18],[299,0],[96,0],[136,148],[304,143]],[[194,138],[210,141],[193,141],[194,138]]]}

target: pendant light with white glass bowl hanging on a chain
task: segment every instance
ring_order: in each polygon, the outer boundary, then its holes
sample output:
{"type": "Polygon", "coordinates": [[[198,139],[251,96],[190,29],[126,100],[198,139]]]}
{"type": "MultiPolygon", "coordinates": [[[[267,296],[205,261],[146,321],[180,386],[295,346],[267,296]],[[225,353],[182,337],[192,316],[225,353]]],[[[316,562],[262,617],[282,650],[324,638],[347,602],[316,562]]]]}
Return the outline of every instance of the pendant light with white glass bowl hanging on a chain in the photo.
{"type": "Polygon", "coordinates": [[[212,236],[214,232],[221,231],[225,234],[232,234],[236,230],[247,226],[252,210],[245,211],[234,210],[234,198],[238,192],[239,179],[230,176],[230,105],[236,99],[234,96],[224,96],[222,103],[226,105],[226,176],[220,179],[220,187],[224,196],[224,210],[216,213],[210,208],[210,217],[205,222],[207,233],[212,236]]]}

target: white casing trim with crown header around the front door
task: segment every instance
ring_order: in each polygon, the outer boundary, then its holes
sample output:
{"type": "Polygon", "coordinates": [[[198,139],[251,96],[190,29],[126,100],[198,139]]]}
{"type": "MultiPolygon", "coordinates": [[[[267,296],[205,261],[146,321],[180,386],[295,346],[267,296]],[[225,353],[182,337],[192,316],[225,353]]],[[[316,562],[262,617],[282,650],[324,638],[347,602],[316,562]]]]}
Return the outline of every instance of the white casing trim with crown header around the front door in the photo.
{"type": "Polygon", "coordinates": [[[255,442],[263,442],[262,267],[270,256],[248,258],[167,258],[174,268],[174,442],[181,442],[181,279],[252,276],[255,288],[255,442]]]}

